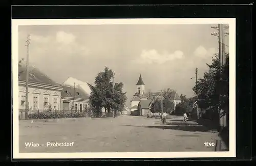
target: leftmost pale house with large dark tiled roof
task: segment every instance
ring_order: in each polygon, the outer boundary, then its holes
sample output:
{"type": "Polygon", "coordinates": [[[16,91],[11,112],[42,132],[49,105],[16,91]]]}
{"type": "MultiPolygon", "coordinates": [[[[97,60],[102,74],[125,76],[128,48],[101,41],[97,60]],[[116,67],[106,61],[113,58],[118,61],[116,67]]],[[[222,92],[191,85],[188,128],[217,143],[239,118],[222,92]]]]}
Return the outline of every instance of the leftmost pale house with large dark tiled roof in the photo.
{"type": "MultiPolygon", "coordinates": [[[[19,64],[18,88],[19,88],[19,113],[25,114],[26,108],[26,65],[19,64]]],[[[28,105],[31,113],[34,111],[60,109],[60,94],[62,87],[46,74],[34,66],[29,66],[28,105]]],[[[30,113],[29,113],[30,114],[30,113]]],[[[25,118],[22,115],[20,118],[25,118]]]]}

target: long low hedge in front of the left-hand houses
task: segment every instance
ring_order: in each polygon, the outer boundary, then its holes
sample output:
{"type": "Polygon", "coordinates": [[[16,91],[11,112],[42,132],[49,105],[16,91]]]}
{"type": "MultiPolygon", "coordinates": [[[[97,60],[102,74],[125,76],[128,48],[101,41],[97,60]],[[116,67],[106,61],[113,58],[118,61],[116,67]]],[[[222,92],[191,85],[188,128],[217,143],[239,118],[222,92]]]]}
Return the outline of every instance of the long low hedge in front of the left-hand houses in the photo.
{"type": "Polygon", "coordinates": [[[60,118],[82,118],[86,117],[87,113],[77,112],[77,111],[46,111],[46,112],[36,112],[29,115],[30,119],[60,119],[60,118]]]}

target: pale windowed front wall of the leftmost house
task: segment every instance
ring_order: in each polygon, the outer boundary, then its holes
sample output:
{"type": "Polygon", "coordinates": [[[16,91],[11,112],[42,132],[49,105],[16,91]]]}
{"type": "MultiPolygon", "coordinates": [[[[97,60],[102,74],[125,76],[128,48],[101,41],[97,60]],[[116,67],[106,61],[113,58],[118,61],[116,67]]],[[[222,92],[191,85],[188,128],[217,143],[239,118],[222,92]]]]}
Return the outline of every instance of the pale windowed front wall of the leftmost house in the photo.
{"type": "MultiPolygon", "coordinates": [[[[52,108],[55,106],[55,109],[60,109],[60,91],[50,90],[47,88],[37,88],[37,87],[29,87],[28,89],[28,102],[29,102],[29,108],[32,108],[32,110],[43,110],[47,109],[44,106],[44,98],[48,98],[48,102],[51,104],[52,108]],[[35,98],[35,104],[34,104],[34,97],[35,98]],[[54,103],[54,99],[56,103],[54,103]]],[[[26,99],[26,87],[19,85],[19,109],[25,109],[26,108],[26,102],[22,101],[26,99]]]]}

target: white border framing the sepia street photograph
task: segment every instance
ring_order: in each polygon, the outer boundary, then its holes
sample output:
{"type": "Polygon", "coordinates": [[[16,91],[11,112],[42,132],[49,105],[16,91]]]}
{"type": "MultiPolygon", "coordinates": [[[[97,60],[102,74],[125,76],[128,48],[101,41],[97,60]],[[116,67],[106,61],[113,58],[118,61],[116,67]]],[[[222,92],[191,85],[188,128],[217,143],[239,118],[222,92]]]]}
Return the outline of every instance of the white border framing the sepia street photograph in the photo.
{"type": "Polygon", "coordinates": [[[13,158],[183,158],[236,157],[236,19],[12,19],[13,158]],[[228,152],[111,152],[111,153],[19,153],[18,125],[18,26],[101,24],[229,24],[229,151],[228,152]]]}

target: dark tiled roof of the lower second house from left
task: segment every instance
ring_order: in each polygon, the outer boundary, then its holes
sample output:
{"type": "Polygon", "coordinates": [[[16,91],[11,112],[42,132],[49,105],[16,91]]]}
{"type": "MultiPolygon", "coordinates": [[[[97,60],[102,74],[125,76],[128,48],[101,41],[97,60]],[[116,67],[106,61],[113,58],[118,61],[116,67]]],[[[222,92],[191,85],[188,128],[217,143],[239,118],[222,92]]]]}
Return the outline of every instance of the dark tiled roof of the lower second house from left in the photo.
{"type": "MultiPolygon", "coordinates": [[[[63,91],[61,91],[61,97],[74,97],[74,88],[71,86],[61,86],[63,91]]],[[[82,90],[75,88],[75,98],[89,99],[89,96],[82,90]]]]}

